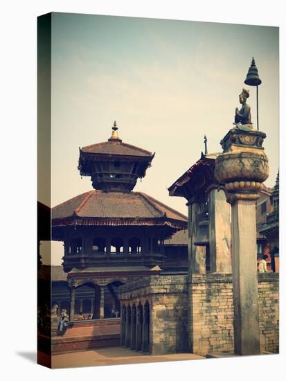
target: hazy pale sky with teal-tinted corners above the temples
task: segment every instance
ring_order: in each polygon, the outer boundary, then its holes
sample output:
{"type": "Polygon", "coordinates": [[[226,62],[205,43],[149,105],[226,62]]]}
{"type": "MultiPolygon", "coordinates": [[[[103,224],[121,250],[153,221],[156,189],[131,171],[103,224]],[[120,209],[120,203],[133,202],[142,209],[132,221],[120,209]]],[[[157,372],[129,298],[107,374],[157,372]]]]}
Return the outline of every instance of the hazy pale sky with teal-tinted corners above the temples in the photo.
{"type": "MultiPolygon", "coordinates": [[[[278,171],[278,28],[54,13],[52,17],[52,206],[87,190],[78,147],[124,142],[156,155],[134,190],[187,214],[167,188],[204,150],[220,152],[255,57],[267,186],[278,171]]],[[[248,100],[256,128],[256,88],[248,100]]],[[[44,201],[44,200],[43,200],[44,201]]],[[[62,246],[53,245],[53,264],[62,246]]]]}

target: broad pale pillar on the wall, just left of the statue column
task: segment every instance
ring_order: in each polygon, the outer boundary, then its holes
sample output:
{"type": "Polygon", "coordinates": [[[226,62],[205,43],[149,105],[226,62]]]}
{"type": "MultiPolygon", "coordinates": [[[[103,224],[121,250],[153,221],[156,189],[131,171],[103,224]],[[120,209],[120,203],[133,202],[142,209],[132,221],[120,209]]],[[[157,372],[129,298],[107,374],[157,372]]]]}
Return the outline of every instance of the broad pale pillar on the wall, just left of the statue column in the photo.
{"type": "Polygon", "coordinates": [[[231,273],[231,206],[224,190],[208,193],[211,272],[231,273]]]}

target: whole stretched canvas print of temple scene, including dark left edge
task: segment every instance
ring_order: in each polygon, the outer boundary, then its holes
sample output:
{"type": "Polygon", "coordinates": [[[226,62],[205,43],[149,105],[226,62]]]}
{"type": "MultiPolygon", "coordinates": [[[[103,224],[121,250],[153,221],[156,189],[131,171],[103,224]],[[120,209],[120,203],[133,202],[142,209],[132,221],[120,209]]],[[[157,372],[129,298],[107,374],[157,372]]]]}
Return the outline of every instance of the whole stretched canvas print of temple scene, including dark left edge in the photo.
{"type": "Polygon", "coordinates": [[[278,353],[278,44],[38,17],[39,364],[278,353]]]}

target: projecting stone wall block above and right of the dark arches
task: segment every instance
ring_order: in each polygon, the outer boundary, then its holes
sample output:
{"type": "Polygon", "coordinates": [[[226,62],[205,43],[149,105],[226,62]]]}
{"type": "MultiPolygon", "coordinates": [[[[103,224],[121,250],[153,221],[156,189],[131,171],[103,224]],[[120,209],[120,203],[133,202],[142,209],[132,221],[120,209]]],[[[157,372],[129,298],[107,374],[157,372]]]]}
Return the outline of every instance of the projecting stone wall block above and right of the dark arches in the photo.
{"type": "Polygon", "coordinates": [[[150,304],[152,355],[188,351],[187,276],[147,276],[120,287],[121,306],[150,304]]]}

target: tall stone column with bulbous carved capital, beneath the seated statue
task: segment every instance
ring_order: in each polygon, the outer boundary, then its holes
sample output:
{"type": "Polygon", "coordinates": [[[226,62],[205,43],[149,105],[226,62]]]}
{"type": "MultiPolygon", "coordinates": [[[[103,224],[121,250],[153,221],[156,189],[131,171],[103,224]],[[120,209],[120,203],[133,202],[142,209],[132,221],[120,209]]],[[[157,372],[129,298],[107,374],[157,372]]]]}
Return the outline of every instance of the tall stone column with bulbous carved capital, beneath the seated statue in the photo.
{"type": "Polygon", "coordinates": [[[256,200],[269,175],[262,148],[263,132],[233,128],[222,139],[224,152],[215,160],[215,177],[231,204],[235,353],[260,353],[256,200]]]}

